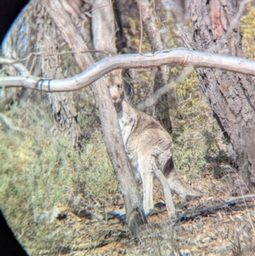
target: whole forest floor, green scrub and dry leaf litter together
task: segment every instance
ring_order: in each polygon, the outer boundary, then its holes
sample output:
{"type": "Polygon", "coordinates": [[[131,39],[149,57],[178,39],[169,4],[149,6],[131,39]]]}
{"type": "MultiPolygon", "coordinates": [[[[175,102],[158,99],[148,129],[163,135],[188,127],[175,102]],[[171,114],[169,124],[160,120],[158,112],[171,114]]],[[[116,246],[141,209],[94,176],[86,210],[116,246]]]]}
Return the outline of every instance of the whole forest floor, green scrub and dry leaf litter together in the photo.
{"type": "MultiPolygon", "coordinates": [[[[237,174],[209,118],[173,134],[178,172],[203,196],[173,195],[178,215],[156,207],[132,237],[121,219],[105,218],[123,201],[102,134],[77,152],[55,134],[50,111],[29,109],[14,105],[4,114],[9,125],[0,122],[0,207],[30,255],[255,255],[255,199],[226,203],[237,174]]],[[[164,202],[157,180],[153,194],[164,202]]]]}

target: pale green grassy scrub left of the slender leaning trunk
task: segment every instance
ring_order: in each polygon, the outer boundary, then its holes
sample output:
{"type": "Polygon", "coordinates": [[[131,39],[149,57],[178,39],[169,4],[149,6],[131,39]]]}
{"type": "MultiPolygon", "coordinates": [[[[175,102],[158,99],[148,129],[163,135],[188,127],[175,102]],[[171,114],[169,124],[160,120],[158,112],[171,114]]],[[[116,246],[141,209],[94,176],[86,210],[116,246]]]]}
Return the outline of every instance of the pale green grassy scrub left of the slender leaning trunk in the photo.
{"type": "Polygon", "coordinates": [[[66,138],[54,134],[47,111],[31,111],[15,105],[0,122],[0,206],[20,241],[37,255],[40,247],[56,253],[65,231],[53,234],[57,208],[69,208],[84,191],[111,195],[117,184],[99,132],[75,151],[66,138]],[[37,225],[37,222],[48,223],[37,225]]]}

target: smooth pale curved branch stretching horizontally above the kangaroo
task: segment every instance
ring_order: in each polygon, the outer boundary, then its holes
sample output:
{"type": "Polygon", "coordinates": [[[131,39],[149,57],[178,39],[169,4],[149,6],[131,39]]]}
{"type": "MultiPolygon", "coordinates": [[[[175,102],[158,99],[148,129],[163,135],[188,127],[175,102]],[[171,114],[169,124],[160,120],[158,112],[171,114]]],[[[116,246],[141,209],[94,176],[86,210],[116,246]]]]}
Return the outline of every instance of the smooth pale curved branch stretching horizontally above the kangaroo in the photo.
{"type": "MultiPolygon", "coordinates": [[[[9,63],[11,63],[11,60],[9,63]]],[[[77,76],[65,79],[43,79],[42,77],[33,76],[0,77],[0,88],[21,86],[47,92],[78,90],[116,69],[150,68],[160,65],[212,68],[255,76],[254,60],[224,54],[192,51],[185,48],[173,48],[161,50],[156,54],[119,54],[106,57],[77,76]]]]}

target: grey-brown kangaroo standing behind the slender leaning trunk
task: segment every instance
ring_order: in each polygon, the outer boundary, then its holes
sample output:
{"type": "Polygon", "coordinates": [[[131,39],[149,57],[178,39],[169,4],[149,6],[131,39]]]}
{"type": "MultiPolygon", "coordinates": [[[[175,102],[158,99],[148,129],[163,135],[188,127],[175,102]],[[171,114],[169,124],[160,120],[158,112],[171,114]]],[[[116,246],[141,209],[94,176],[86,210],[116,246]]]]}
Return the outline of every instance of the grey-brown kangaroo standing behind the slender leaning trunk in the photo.
{"type": "Polygon", "coordinates": [[[175,213],[171,191],[184,200],[201,196],[178,176],[173,163],[173,142],[159,122],[144,112],[135,110],[124,100],[122,71],[105,76],[111,99],[115,105],[127,157],[136,177],[143,184],[145,215],[153,210],[153,179],[156,176],[164,189],[167,213],[175,213]]]}

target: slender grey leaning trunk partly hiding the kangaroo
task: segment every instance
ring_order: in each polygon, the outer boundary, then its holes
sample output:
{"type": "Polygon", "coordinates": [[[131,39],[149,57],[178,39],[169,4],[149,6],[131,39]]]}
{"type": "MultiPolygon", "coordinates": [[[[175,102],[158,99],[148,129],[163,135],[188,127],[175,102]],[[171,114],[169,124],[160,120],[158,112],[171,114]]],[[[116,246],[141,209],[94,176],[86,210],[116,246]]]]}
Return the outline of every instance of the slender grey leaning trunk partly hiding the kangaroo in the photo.
{"type": "MultiPolygon", "coordinates": [[[[59,27],[66,43],[71,50],[88,51],[88,47],[77,28],[73,25],[71,18],[65,13],[57,0],[45,0],[48,13],[59,27]]],[[[91,54],[75,54],[75,59],[81,70],[88,65],[93,65],[91,54]]],[[[122,142],[122,136],[118,128],[116,111],[111,101],[105,81],[100,79],[94,83],[93,93],[99,105],[99,116],[105,137],[107,152],[111,158],[112,166],[116,172],[116,178],[122,191],[127,213],[128,229],[133,235],[139,233],[139,227],[146,223],[139,190],[135,183],[133,173],[127,160],[127,154],[122,142]]]]}

